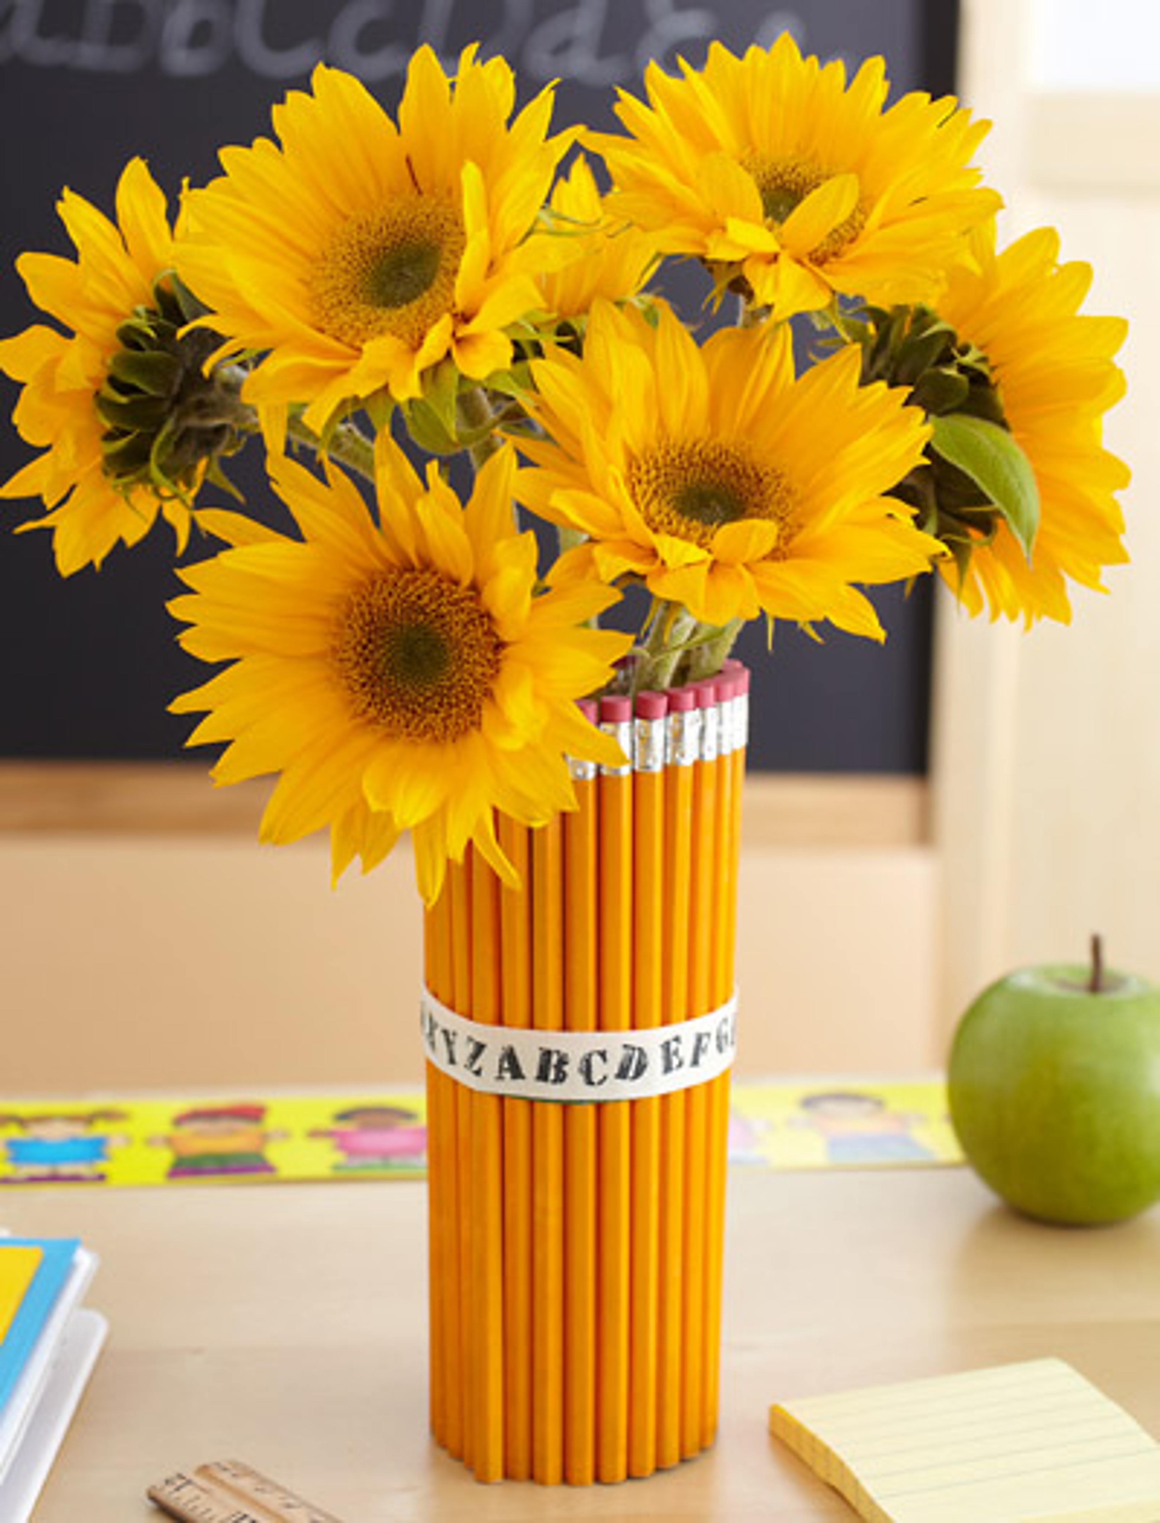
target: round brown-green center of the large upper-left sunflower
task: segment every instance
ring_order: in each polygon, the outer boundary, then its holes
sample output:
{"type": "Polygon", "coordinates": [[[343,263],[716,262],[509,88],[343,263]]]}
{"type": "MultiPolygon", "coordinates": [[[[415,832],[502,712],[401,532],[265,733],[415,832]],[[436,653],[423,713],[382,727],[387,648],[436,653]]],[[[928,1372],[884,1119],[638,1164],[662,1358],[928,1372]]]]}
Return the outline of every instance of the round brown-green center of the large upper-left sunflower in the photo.
{"type": "Polygon", "coordinates": [[[309,280],[323,332],[347,344],[393,334],[417,349],[455,302],[466,247],[454,201],[417,192],[347,218],[309,280]]]}

